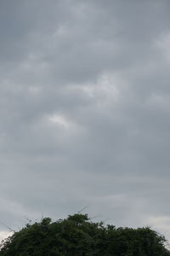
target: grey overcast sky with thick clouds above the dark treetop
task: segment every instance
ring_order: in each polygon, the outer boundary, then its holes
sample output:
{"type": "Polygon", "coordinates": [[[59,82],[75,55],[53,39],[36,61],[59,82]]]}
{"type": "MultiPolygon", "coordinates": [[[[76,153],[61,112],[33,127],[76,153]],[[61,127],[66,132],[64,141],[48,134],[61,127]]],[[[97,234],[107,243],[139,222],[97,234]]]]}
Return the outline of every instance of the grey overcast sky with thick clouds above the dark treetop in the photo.
{"type": "Polygon", "coordinates": [[[170,237],[170,2],[0,1],[0,235],[85,212],[170,237]]]}

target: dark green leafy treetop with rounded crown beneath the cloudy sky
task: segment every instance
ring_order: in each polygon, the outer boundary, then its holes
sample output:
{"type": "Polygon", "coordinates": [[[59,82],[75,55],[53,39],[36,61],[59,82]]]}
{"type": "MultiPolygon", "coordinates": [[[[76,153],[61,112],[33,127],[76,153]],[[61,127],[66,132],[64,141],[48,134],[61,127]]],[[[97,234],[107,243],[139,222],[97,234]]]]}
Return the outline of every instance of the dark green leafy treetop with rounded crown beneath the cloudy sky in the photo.
{"type": "Polygon", "coordinates": [[[3,241],[0,256],[170,256],[165,238],[149,227],[137,230],[93,223],[87,214],[52,222],[42,218],[3,241]]]}

